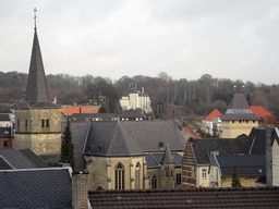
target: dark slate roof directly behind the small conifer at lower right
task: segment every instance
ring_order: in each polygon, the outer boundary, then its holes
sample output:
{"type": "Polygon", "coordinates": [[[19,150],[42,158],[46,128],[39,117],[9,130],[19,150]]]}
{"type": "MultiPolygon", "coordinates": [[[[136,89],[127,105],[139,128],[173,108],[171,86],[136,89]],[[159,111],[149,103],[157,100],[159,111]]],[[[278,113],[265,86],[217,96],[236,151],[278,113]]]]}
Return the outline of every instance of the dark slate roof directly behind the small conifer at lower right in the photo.
{"type": "Polygon", "coordinates": [[[232,176],[238,163],[239,175],[264,175],[266,173],[266,155],[216,156],[222,176],[232,176]]]}

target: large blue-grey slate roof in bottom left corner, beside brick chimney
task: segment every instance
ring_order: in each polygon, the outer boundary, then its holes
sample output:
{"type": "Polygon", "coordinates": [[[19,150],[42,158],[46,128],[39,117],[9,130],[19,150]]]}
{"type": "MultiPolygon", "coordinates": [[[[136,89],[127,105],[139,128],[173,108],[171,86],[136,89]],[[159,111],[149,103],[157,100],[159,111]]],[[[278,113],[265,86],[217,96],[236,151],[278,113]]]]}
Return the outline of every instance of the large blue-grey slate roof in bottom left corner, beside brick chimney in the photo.
{"type": "Polygon", "coordinates": [[[0,171],[1,208],[72,208],[69,170],[0,171]]]}

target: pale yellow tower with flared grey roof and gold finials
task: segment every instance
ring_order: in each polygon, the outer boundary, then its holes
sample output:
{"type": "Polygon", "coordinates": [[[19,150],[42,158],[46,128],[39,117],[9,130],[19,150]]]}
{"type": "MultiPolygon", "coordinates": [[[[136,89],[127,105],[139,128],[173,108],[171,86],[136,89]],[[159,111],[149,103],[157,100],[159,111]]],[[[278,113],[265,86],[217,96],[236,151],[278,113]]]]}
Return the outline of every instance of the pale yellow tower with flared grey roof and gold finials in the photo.
{"type": "Polygon", "coordinates": [[[251,110],[243,94],[235,94],[226,113],[221,116],[222,138],[235,138],[248,135],[258,126],[259,118],[251,110]]]}

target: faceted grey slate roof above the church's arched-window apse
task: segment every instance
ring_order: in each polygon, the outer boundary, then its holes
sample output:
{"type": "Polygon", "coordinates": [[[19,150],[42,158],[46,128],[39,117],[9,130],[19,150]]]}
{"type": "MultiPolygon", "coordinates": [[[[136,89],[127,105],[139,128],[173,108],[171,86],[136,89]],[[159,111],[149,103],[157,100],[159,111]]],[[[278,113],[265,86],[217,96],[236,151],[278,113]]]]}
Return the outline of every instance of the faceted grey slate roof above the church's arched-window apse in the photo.
{"type": "Polygon", "coordinates": [[[138,144],[120,122],[92,123],[85,152],[98,156],[143,155],[138,144]],[[108,134],[104,134],[108,132],[108,134]],[[89,149],[90,147],[90,149],[89,149]]]}

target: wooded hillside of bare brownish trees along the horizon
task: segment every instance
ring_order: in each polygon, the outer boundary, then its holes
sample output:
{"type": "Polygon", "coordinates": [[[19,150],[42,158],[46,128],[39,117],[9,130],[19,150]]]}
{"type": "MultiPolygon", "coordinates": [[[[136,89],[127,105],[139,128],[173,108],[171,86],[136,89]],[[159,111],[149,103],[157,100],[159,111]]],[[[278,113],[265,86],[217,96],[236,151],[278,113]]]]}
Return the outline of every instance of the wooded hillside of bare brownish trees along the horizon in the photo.
{"type": "MultiPolygon", "coordinates": [[[[227,110],[234,93],[243,93],[251,104],[263,106],[268,111],[279,112],[279,85],[214,78],[204,74],[196,81],[173,79],[161,72],[157,77],[136,75],[123,76],[118,81],[92,75],[72,76],[66,74],[47,75],[51,97],[59,104],[90,104],[100,97],[106,98],[110,112],[121,112],[119,99],[130,88],[147,93],[153,112],[157,115],[181,118],[189,114],[207,115],[215,108],[227,110]]],[[[0,72],[0,101],[24,100],[27,74],[0,72]]]]}

